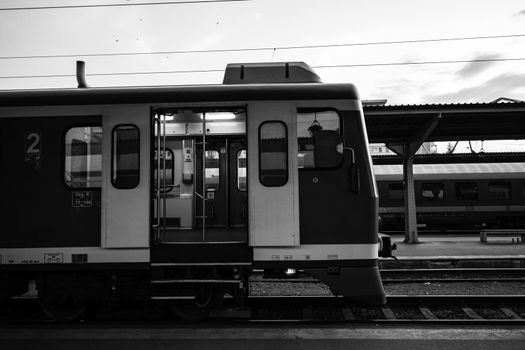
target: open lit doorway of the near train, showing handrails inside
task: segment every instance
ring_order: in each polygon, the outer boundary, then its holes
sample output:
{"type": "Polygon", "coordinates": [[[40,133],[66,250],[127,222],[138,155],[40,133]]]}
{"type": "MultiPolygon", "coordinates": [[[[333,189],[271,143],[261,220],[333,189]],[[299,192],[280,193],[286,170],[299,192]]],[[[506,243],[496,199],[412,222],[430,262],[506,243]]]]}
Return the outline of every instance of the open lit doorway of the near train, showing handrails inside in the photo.
{"type": "Polygon", "coordinates": [[[155,116],[155,243],[247,244],[246,113],[155,116]]]}

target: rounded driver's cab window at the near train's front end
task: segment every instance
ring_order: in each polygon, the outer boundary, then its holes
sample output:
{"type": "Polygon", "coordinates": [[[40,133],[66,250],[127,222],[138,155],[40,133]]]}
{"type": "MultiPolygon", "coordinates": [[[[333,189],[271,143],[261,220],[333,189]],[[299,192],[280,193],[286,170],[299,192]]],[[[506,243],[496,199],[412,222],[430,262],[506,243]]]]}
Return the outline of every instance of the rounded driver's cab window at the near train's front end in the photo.
{"type": "MultiPolygon", "coordinates": [[[[341,118],[336,111],[301,111],[297,112],[297,161],[299,168],[336,168],[341,165],[343,156],[337,144],[333,147],[333,156],[322,160],[315,159],[316,141],[326,144],[327,138],[316,138],[319,131],[335,131],[339,138],[333,138],[336,143],[340,142],[341,118]]],[[[331,139],[328,139],[330,142],[331,139]]],[[[326,152],[322,152],[326,154],[326,152]]]]}

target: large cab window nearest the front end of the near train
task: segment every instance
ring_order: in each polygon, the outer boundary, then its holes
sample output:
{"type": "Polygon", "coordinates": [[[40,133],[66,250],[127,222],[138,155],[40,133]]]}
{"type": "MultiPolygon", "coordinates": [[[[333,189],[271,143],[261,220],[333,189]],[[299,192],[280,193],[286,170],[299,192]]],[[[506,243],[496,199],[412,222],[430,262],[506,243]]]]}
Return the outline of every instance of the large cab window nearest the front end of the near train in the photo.
{"type": "Polygon", "coordinates": [[[299,168],[338,167],[343,161],[341,140],[341,118],[336,111],[299,110],[297,112],[299,168]],[[322,158],[321,154],[324,155],[322,158]]]}

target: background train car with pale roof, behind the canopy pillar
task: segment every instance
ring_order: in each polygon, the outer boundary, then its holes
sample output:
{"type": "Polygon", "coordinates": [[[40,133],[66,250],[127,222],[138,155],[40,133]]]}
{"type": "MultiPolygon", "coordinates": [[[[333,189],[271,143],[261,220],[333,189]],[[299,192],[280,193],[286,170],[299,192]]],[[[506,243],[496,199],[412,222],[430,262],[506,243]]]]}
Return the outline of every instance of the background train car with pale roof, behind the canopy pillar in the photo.
{"type": "MultiPolygon", "coordinates": [[[[374,166],[383,232],[404,231],[401,165],[374,166]]],[[[416,164],[418,228],[525,228],[525,163],[416,164]]]]}

